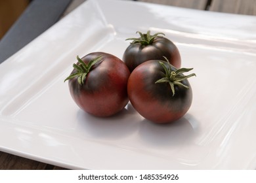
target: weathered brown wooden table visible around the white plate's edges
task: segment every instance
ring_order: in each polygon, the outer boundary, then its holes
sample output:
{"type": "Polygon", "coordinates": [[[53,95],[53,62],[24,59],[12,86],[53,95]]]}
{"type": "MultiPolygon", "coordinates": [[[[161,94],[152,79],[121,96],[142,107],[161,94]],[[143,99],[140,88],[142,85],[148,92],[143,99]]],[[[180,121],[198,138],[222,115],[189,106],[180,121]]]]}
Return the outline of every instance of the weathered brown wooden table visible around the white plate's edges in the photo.
{"type": "MultiPolygon", "coordinates": [[[[64,12],[64,16],[85,0],[73,0],[70,6],[64,12]]],[[[211,10],[217,12],[228,12],[235,14],[256,15],[256,0],[139,0],[148,3],[159,3],[184,8],[194,8],[200,10],[211,10]]],[[[53,169],[60,170],[62,167],[56,167],[47,163],[33,161],[32,159],[22,158],[0,152],[0,169],[53,169]]]]}

